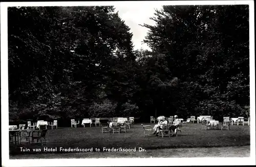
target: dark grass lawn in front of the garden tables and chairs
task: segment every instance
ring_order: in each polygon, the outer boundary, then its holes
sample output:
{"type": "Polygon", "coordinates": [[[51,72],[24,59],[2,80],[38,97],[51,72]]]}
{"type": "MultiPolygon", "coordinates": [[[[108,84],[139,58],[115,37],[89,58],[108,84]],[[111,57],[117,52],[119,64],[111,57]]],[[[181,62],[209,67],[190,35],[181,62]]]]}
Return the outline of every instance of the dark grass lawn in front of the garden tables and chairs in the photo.
{"type": "MultiPolygon", "coordinates": [[[[144,125],[152,125],[144,123],[144,125]]],[[[220,128],[220,126],[219,126],[220,128]]],[[[228,147],[228,146],[248,146],[250,145],[250,129],[249,126],[231,126],[231,130],[201,130],[201,124],[188,124],[182,127],[182,135],[173,137],[157,137],[157,136],[143,136],[143,128],[141,124],[135,124],[131,129],[127,129],[127,133],[100,133],[100,127],[78,127],[78,128],[58,128],[50,129],[47,132],[47,145],[40,146],[36,144],[23,144],[19,146],[10,145],[10,158],[57,158],[59,156],[65,158],[79,158],[79,157],[91,157],[97,158],[103,157],[144,157],[144,156],[157,156],[156,151],[162,152],[163,149],[172,150],[180,148],[181,152],[190,150],[191,155],[193,149],[200,148],[209,152],[210,150],[219,149],[216,147],[228,147]],[[21,152],[19,147],[28,148],[30,151],[21,152]],[[44,147],[56,148],[56,152],[44,152],[44,147]],[[79,148],[90,149],[93,148],[93,152],[60,152],[59,148],[79,148]],[[136,152],[95,152],[95,148],[102,151],[103,147],[106,148],[127,148],[134,149],[136,152]],[[145,152],[139,152],[139,147],[145,149],[145,152]],[[172,149],[170,149],[172,148],[172,149]],[[188,149],[190,148],[190,149],[188,149]],[[32,149],[41,149],[41,151],[33,151],[32,149]],[[161,150],[159,150],[161,149],[161,150]],[[183,149],[183,150],[182,150],[183,149]],[[48,153],[48,154],[47,154],[48,153]],[[49,154],[50,153],[50,154],[49,154]],[[22,155],[24,154],[24,156],[22,155]],[[29,154],[29,155],[28,155],[29,154]],[[71,156],[71,154],[73,156],[71,156]]],[[[234,148],[234,147],[233,147],[234,148]]],[[[249,149],[249,147],[248,147],[249,149]]],[[[232,149],[231,149],[232,150],[232,149]]],[[[196,151],[195,151],[196,152],[196,151]]],[[[225,151],[224,151],[225,152],[225,151]]],[[[229,151],[230,152],[230,151],[229,151]]],[[[163,152],[164,153],[164,152],[163,152]]],[[[218,151],[217,151],[218,153],[218,151]]],[[[165,153],[164,153],[165,154],[165,153]]],[[[241,153],[239,153],[241,154],[241,153]]],[[[168,154],[167,154],[168,155],[168,154]]],[[[169,154],[172,155],[172,154],[169,154]]],[[[175,155],[173,155],[175,156],[175,155]]],[[[179,154],[177,153],[177,156],[179,154]]],[[[188,155],[189,156],[189,155],[188,155]]],[[[194,156],[194,157],[195,157],[194,156]]],[[[200,156],[200,155],[198,155],[200,156]]],[[[212,155],[214,156],[214,155],[212,155]]],[[[231,155],[230,155],[231,156],[231,155]]],[[[239,155],[238,155],[239,156],[239,155]]],[[[161,156],[163,157],[163,156],[161,156]]]]}

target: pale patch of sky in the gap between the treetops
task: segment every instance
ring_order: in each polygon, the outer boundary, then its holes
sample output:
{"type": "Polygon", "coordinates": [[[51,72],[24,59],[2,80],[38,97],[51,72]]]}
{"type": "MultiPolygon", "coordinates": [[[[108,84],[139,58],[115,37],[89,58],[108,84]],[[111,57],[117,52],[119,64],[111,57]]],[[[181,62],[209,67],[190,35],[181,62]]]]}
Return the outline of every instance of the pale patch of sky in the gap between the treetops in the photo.
{"type": "Polygon", "coordinates": [[[161,5],[148,5],[146,7],[141,6],[114,6],[116,12],[118,11],[119,17],[125,21],[133,33],[133,44],[134,49],[148,49],[151,50],[146,44],[143,44],[143,39],[148,32],[143,26],[144,23],[154,25],[155,21],[151,20],[150,17],[154,17],[155,9],[161,9],[161,5]]]}

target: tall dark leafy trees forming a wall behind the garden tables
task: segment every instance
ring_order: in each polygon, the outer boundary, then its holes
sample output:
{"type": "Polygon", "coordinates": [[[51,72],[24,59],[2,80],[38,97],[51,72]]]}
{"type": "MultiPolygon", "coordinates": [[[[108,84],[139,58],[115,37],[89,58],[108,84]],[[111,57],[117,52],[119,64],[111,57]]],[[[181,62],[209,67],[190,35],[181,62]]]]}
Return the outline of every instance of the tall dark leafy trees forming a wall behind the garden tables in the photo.
{"type": "Polygon", "coordinates": [[[112,6],[8,8],[9,117],[249,116],[248,6],[163,6],[134,50],[112,6]]]}

